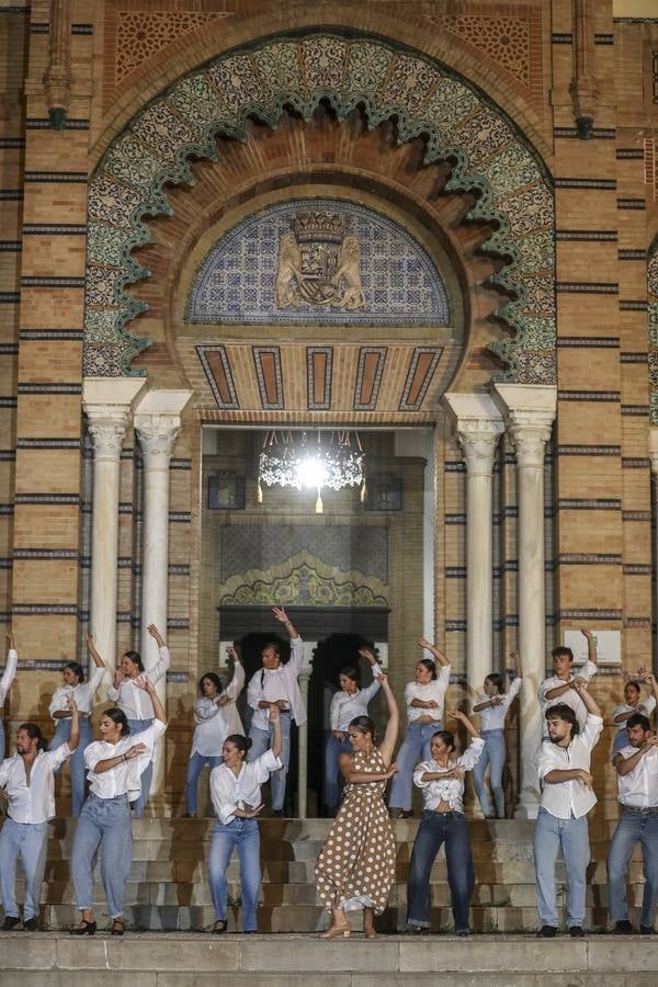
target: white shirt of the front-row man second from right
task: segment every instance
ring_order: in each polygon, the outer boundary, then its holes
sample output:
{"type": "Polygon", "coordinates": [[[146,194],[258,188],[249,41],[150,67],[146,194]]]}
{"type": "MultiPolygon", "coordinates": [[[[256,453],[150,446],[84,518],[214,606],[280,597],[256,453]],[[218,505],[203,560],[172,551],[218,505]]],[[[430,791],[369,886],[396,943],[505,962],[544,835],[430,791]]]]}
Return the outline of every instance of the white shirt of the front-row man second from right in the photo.
{"type": "MultiPolygon", "coordinates": [[[[569,771],[574,768],[590,770],[592,748],[601,736],[603,719],[588,713],[583,729],[576,734],[568,747],[560,747],[551,740],[544,740],[540,748],[538,773],[544,781],[549,771],[569,771]]],[[[597,796],[591,789],[586,789],[578,781],[544,784],[542,790],[542,808],[558,819],[579,819],[586,816],[597,804],[597,796]]]]}

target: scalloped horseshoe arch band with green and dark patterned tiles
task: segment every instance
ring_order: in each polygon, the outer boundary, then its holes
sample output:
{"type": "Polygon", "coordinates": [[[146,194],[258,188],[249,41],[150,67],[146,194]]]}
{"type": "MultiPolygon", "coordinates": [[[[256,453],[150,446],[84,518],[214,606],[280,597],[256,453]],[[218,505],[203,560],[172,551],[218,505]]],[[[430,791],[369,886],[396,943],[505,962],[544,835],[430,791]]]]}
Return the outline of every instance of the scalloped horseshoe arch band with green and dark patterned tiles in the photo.
{"type": "Polygon", "coordinates": [[[371,36],[281,36],[208,63],[143,110],[109,147],[89,186],[84,372],[140,375],[149,344],[126,326],[145,310],[126,294],[149,272],[132,251],[151,241],[146,217],[171,215],[167,183],[192,184],[191,158],[217,159],[218,136],[271,127],[285,107],[309,120],[321,101],[339,120],[360,107],[370,128],[394,121],[399,144],[420,137],[424,163],[450,160],[449,192],[475,192],[470,220],[495,227],[481,249],[503,266],[489,282],[513,300],[497,309],[509,338],[492,344],[501,379],[555,382],[555,211],[541,160],[473,84],[417,52],[371,36]]]}

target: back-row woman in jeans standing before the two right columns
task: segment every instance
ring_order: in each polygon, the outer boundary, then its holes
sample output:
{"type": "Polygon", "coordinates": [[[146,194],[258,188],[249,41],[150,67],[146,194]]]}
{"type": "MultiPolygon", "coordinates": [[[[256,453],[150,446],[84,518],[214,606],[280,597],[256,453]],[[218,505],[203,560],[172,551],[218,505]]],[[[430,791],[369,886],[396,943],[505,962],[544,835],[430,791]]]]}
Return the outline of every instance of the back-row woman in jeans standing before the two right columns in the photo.
{"type": "Polygon", "coordinates": [[[519,694],[523,682],[521,669],[521,656],[519,651],[512,651],[510,658],[514,660],[515,679],[510,685],[510,691],[504,691],[504,678],[500,672],[491,672],[485,679],[485,694],[480,696],[473,707],[474,713],[479,713],[480,736],[485,741],[485,749],[473,770],[475,791],[483,813],[487,819],[497,816],[504,819],[504,791],[502,787],[502,772],[507,750],[504,746],[504,721],[510,712],[510,706],[519,694]],[[489,765],[489,782],[496,804],[496,813],[491,808],[491,799],[485,784],[485,772],[489,765]]]}

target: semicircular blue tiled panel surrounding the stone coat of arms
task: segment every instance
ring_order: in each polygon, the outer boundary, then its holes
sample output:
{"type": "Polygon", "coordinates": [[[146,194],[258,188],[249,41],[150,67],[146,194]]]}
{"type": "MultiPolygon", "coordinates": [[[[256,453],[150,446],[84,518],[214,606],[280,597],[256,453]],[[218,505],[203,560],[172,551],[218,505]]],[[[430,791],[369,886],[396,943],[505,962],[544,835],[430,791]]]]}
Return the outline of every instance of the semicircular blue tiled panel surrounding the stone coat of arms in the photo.
{"type": "MultiPolygon", "coordinates": [[[[299,248],[308,251],[311,272],[325,262],[321,243],[298,242],[297,252],[299,248]]],[[[334,260],[328,257],[326,262],[334,260]]],[[[322,274],[308,276],[317,283],[322,274]]],[[[441,275],[405,229],[365,206],[309,198],[271,206],[226,234],[201,266],[185,318],[202,324],[446,326],[450,309],[441,275]],[[340,304],[342,282],[331,304],[307,299],[298,283],[303,273],[291,277],[290,291],[281,297],[284,237],[295,238],[294,220],[300,215],[339,216],[344,224],[341,243],[347,237],[356,239],[363,293],[359,308],[340,304]]]]}

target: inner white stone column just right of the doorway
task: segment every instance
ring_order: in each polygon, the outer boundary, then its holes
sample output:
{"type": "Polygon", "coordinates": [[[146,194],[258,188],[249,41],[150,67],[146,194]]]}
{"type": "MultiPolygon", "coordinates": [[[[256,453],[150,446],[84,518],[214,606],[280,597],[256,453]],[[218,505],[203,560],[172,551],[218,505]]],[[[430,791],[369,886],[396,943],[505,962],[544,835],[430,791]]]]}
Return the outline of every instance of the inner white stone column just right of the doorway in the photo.
{"type": "Polygon", "coordinates": [[[466,463],[466,665],[472,695],[492,670],[494,455],[504,424],[489,395],[446,394],[466,463]]]}

